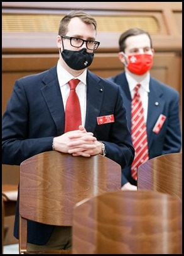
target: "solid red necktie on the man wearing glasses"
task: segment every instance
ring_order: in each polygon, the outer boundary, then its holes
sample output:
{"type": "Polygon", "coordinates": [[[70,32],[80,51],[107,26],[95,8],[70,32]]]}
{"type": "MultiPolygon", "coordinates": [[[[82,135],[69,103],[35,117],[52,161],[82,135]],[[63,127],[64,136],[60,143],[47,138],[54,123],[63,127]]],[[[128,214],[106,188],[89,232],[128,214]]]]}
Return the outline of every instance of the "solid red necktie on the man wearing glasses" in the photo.
{"type": "Polygon", "coordinates": [[[72,79],[68,82],[70,85],[70,94],[65,107],[65,132],[78,130],[78,125],[82,124],[80,102],[75,91],[79,82],[79,79],[72,79]]]}

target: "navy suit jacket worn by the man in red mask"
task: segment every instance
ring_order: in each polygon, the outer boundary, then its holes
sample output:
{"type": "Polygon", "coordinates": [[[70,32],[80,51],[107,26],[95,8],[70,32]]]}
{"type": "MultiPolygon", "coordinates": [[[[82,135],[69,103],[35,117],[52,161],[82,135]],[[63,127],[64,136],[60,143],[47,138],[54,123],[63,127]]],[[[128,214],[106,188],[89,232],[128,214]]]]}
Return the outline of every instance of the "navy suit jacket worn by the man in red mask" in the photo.
{"type": "MultiPolygon", "coordinates": [[[[131,93],[127,83],[125,72],[107,78],[121,88],[121,94],[126,108],[127,125],[131,131],[131,93]]],[[[161,154],[180,152],[181,149],[181,127],[180,127],[180,107],[179,93],[171,86],[150,78],[148,94],[148,117],[146,129],[148,134],[149,159],[161,154]],[[166,119],[160,132],[153,132],[153,127],[160,115],[165,115],[166,119]]],[[[130,182],[136,185],[131,177],[130,167],[122,171],[122,185],[130,182]]]]}

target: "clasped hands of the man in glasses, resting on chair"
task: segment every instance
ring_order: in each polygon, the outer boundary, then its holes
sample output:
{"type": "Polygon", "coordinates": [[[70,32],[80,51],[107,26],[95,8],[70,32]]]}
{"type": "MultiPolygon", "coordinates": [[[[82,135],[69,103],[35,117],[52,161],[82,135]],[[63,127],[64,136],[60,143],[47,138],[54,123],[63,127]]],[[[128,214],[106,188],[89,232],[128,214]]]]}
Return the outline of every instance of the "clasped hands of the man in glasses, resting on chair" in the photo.
{"type": "Polygon", "coordinates": [[[70,131],[54,137],[54,148],[73,156],[90,157],[102,153],[102,143],[97,141],[92,132],[87,132],[83,125],[78,130],[70,131]]]}

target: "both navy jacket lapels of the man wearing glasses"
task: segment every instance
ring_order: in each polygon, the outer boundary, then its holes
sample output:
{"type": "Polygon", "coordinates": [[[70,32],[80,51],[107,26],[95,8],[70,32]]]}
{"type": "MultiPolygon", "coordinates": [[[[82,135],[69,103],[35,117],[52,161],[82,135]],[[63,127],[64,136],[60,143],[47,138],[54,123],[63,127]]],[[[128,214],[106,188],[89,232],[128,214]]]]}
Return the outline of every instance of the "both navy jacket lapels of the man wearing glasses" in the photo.
{"type": "MultiPolygon", "coordinates": [[[[41,93],[50,110],[51,117],[56,124],[57,133],[63,134],[65,129],[65,110],[58,83],[56,66],[46,73],[43,83],[45,86],[41,88],[41,93]]],[[[95,130],[103,96],[104,86],[100,84],[100,79],[90,73],[90,71],[87,71],[87,105],[85,118],[85,129],[87,131],[94,132],[95,130]]]]}

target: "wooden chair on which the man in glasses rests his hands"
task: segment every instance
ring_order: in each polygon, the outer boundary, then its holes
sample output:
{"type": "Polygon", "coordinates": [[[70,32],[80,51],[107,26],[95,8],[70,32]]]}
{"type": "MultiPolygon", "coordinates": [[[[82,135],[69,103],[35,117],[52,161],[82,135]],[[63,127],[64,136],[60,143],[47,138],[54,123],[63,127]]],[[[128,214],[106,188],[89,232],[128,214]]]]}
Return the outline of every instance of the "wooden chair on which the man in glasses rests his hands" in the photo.
{"type": "Polygon", "coordinates": [[[72,226],[77,202],[113,190],[121,190],[121,166],[105,156],[85,158],[48,151],[23,161],[19,180],[20,252],[26,251],[26,219],[72,226]]]}

